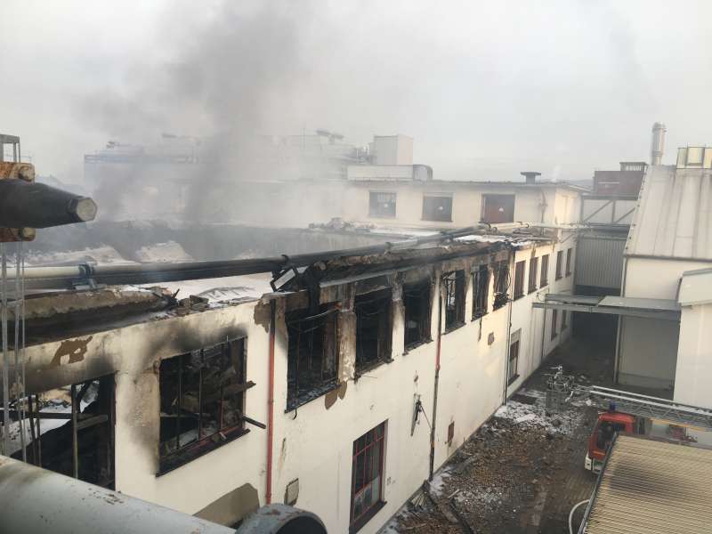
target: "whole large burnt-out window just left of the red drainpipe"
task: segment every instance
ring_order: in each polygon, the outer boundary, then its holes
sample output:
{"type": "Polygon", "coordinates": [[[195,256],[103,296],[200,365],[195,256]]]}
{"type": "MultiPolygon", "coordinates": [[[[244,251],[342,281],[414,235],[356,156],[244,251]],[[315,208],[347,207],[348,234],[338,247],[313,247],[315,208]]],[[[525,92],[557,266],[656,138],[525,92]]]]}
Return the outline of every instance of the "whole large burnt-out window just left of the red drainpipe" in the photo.
{"type": "Polygon", "coordinates": [[[159,474],[248,432],[245,363],[244,338],[161,360],[159,474]]]}

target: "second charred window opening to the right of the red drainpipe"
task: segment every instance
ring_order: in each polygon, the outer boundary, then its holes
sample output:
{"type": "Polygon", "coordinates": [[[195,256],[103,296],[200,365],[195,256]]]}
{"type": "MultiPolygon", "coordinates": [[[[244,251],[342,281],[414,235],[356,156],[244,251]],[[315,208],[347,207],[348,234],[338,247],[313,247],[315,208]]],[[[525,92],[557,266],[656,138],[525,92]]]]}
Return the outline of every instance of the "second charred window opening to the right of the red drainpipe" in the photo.
{"type": "Polygon", "coordinates": [[[364,295],[356,295],[356,371],[391,361],[391,306],[390,287],[364,295]]]}

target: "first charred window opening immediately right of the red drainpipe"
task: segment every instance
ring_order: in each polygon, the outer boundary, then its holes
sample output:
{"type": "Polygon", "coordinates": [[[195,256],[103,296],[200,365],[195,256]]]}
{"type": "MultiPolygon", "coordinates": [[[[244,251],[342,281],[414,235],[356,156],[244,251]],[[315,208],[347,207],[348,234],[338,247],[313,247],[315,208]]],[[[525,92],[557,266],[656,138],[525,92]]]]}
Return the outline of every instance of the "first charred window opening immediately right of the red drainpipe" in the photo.
{"type": "Polygon", "coordinates": [[[336,386],[336,308],[322,306],[287,313],[287,411],[316,399],[336,386]]]}

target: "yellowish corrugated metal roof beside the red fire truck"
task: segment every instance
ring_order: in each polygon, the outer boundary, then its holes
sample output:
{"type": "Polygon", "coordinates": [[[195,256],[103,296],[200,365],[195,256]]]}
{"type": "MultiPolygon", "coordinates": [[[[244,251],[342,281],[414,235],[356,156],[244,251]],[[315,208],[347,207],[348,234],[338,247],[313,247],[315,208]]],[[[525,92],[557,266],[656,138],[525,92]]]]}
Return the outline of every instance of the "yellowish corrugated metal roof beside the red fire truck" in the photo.
{"type": "Polygon", "coordinates": [[[582,534],[698,534],[712,524],[712,449],[621,434],[582,534]]]}

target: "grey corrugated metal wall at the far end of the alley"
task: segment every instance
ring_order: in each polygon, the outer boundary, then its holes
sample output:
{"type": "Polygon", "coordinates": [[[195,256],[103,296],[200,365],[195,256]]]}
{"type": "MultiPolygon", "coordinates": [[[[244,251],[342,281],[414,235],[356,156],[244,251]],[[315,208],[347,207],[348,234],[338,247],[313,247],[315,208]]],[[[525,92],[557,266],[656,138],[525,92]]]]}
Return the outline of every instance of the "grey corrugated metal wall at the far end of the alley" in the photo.
{"type": "Polygon", "coordinates": [[[620,288],[625,247],[625,237],[579,237],[574,278],[576,285],[620,288]]]}

